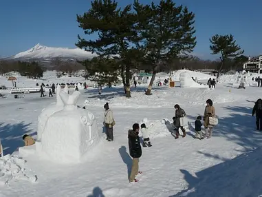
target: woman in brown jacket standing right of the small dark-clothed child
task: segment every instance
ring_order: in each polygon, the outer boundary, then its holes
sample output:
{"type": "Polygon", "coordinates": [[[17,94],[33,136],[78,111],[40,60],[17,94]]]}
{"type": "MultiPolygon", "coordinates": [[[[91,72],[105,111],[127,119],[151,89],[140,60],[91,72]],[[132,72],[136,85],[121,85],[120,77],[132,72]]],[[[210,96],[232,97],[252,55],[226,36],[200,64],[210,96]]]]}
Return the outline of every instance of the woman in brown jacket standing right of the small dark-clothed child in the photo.
{"type": "Polygon", "coordinates": [[[213,106],[213,102],[211,99],[206,100],[206,107],[204,111],[204,127],[205,127],[205,132],[206,136],[208,138],[212,137],[212,132],[213,132],[213,125],[209,124],[209,117],[214,117],[215,116],[215,107],[213,106]]]}

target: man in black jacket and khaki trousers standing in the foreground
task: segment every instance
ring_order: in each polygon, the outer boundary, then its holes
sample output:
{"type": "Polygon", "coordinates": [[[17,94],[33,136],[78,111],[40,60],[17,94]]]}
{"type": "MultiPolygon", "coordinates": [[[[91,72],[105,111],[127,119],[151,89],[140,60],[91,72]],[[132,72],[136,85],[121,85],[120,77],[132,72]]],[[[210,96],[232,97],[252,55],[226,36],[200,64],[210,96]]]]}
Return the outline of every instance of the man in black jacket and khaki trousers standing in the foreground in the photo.
{"type": "Polygon", "coordinates": [[[142,174],[142,172],[138,171],[139,158],[142,156],[142,148],[140,145],[140,138],[138,136],[139,129],[139,124],[135,123],[133,124],[133,129],[129,130],[129,154],[131,157],[133,157],[129,183],[138,182],[138,179],[135,179],[135,176],[137,176],[138,174],[142,174]]]}

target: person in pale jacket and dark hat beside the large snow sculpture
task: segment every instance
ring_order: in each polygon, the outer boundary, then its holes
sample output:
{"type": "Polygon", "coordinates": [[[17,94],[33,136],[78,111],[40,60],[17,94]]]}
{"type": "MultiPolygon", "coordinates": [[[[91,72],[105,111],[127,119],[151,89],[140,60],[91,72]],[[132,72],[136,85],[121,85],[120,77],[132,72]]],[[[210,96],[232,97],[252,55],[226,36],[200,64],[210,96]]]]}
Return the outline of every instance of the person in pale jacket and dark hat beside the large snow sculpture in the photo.
{"type": "Polygon", "coordinates": [[[105,103],[105,118],[104,126],[105,133],[107,134],[107,141],[113,141],[113,125],[115,125],[115,120],[113,119],[113,112],[109,109],[109,103],[105,103]]]}

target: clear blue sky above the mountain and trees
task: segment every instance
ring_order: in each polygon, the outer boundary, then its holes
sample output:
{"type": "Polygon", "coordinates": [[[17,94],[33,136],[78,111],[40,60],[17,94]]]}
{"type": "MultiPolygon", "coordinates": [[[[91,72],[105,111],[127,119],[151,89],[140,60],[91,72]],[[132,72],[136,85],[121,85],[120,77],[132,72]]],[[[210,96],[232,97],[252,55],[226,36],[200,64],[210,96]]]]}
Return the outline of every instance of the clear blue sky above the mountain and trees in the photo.
{"type": "MultiPolygon", "coordinates": [[[[124,6],[133,0],[119,2],[120,6],[124,6]]],[[[175,2],[182,3],[195,12],[197,47],[194,53],[199,57],[214,59],[209,50],[209,39],[213,34],[233,34],[246,55],[262,54],[261,0],[175,2]]],[[[90,6],[90,0],[1,0],[0,57],[28,50],[37,43],[76,48],[74,43],[77,41],[77,34],[82,34],[76,22],[76,14],[87,12],[90,6]]]]}

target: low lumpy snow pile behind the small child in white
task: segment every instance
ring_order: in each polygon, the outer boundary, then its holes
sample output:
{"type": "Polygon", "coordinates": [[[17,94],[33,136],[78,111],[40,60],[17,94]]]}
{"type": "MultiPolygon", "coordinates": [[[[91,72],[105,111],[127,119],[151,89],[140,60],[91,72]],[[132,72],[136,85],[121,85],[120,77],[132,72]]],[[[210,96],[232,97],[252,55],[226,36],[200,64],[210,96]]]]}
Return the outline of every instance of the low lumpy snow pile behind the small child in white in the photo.
{"type": "Polygon", "coordinates": [[[165,121],[149,121],[147,118],[144,118],[140,122],[140,125],[142,123],[146,124],[146,127],[149,131],[149,138],[157,138],[170,135],[165,121]]]}

